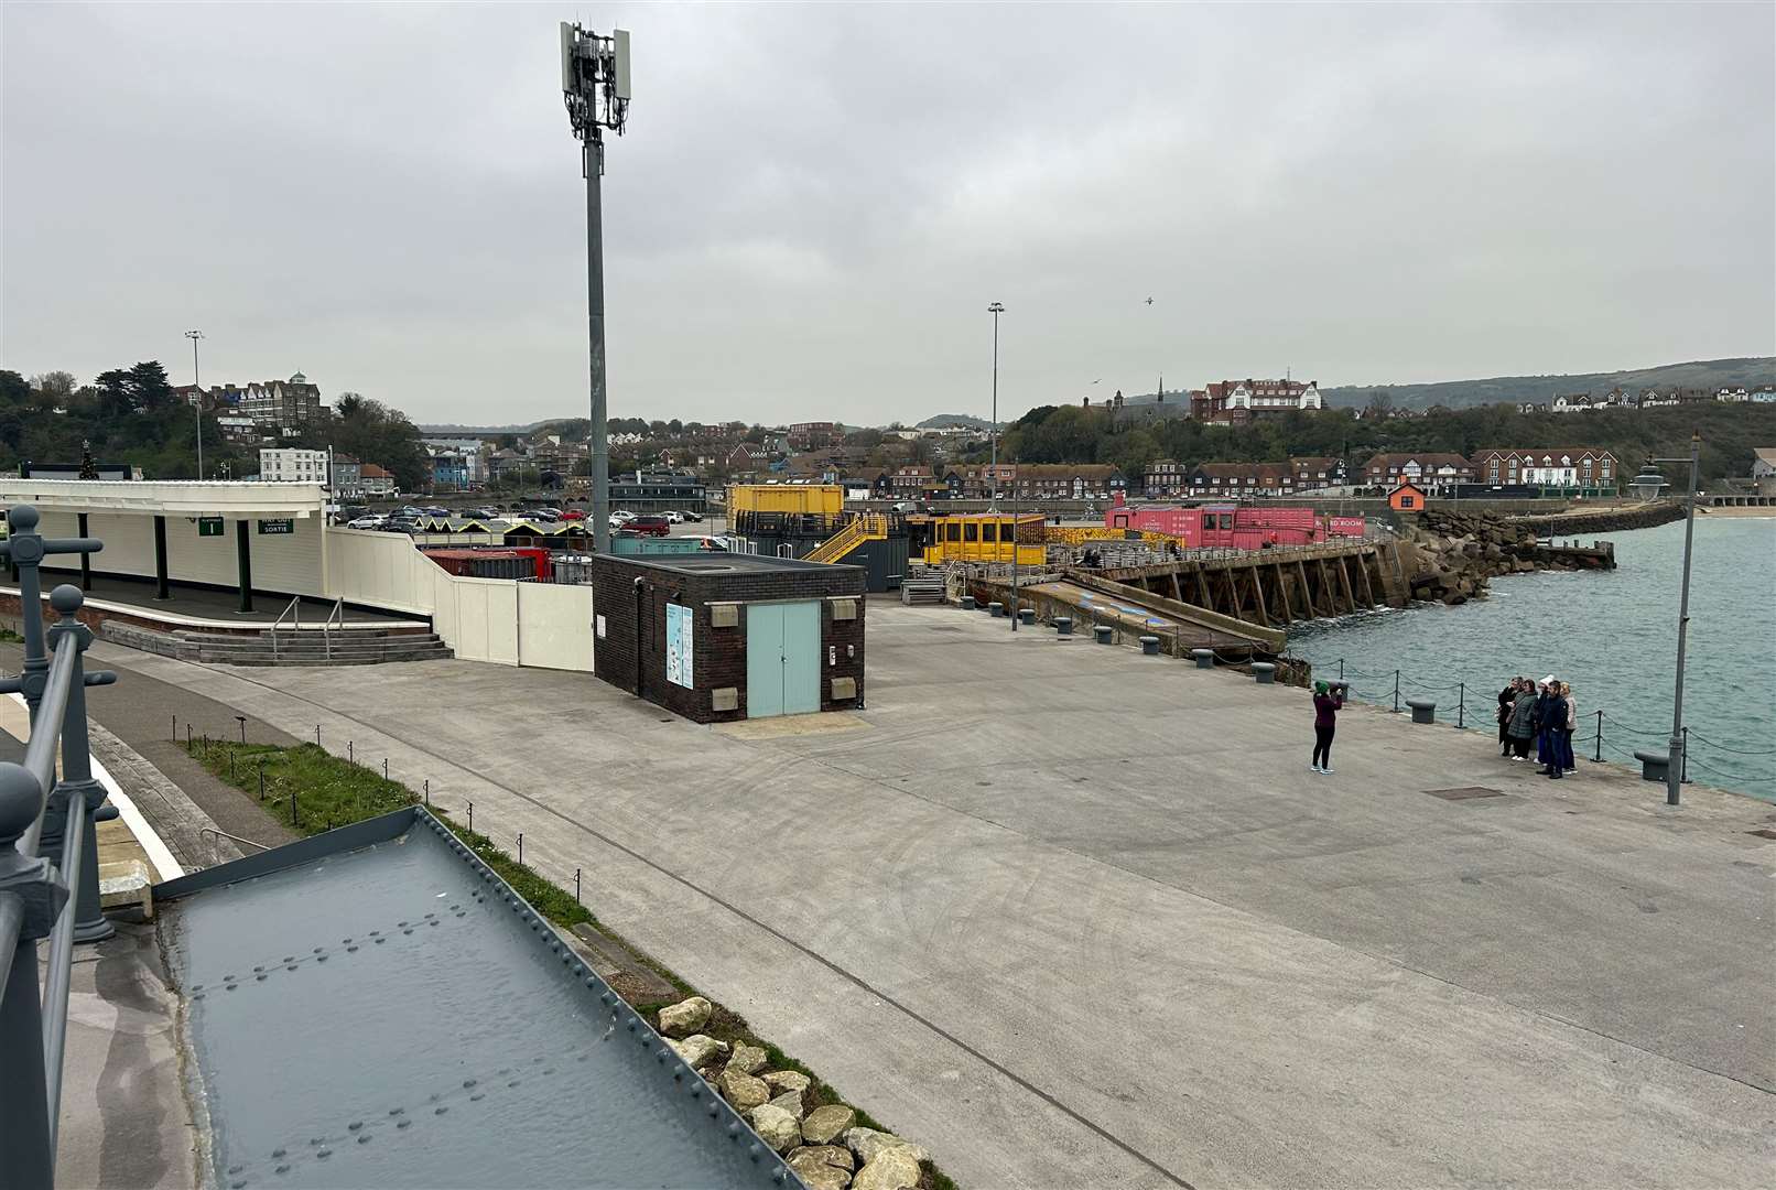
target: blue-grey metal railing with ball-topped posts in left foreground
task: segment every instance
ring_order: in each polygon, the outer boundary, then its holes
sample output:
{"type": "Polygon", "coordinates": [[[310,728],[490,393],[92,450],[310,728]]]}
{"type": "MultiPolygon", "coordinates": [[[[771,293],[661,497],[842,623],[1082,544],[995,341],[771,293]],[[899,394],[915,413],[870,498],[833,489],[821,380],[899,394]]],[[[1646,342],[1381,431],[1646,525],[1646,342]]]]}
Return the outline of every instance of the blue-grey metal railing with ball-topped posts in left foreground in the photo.
{"type": "Polygon", "coordinates": [[[62,1051],[75,943],[114,932],[99,909],[98,837],[92,824],[115,817],[92,780],[87,686],[115,673],[85,671],[92,629],[80,623],[78,586],[50,591],[60,616],[44,631],[46,554],[92,554],[92,538],[44,540],[37,510],[11,510],[0,551],[18,567],[25,661],[0,677],[0,693],[23,694],[30,709],[25,762],[0,762],[0,1154],[5,1185],[55,1185],[55,1140],[62,1105],[62,1051]],[[55,776],[60,748],[62,776],[55,776]],[[39,998],[37,941],[50,940],[39,998]]]}

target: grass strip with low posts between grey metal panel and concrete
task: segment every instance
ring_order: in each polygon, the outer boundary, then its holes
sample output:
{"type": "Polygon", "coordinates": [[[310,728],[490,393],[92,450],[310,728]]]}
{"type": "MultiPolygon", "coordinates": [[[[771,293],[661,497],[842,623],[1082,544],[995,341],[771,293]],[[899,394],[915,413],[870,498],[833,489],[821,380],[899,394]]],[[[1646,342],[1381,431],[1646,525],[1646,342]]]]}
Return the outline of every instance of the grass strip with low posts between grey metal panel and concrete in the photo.
{"type": "MultiPolygon", "coordinates": [[[[419,801],[419,796],[407,785],[384,778],[377,769],[366,769],[361,764],[343,760],[318,744],[279,748],[275,744],[236,744],[222,739],[194,739],[186,744],[186,751],[190,751],[192,758],[204,766],[204,769],[218,780],[258,797],[268,813],[302,835],[321,835],[339,826],[350,826],[352,822],[375,819],[394,810],[405,810],[419,801]]],[[[515,893],[529,900],[531,906],[535,906],[545,918],[563,929],[590,925],[600,931],[613,941],[622,943],[630,954],[646,963],[648,968],[652,968],[661,979],[670,982],[678,991],[675,1000],[630,1002],[630,1007],[645,1014],[650,1023],[659,1025],[657,1014],[668,1004],[677,1004],[687,996],[703,996],[703,993],[696,988],[684,982],[678,975],[666,970],[639,948],[620,938],[614,931],[602,925],[599,918],[586,909],[586,906],[574,900],[574,893],[556,886],[554,881],[542,876],[535,869],[513,860],[487,835],[471,831],[467,826],[456,822],[435,806],[426,808],[433,817],[444,822],[444,826],[455,831],[456,838],[474,851],[474,854],[487,867],[494,869],[503,881],[511,885],[515,893]]],[[[716,1041],[725,1041],[730,1046],[735,1043],[758,1046],[765,1051],[769,1069],[797,1071],[806,1075],[810,1080],[806,1094],[810,1112],[817,1107],[826,1107],[828,1103],[844,1103],[858,1114],[860,1126],[874,1128],[877,1131],[893,1131],[856,1103],[838,1094],[831,1083],[822,1080],[803,1062],[789,1053],[783,1053],[783,1050],[755,1034],[744,1016],[730,1011],[712,996],[703,998],[714,1007],[709,1014],[709,1023],[698,1032],[703,1032],[716,1041]]],[[[955,1183],[950,1181],[950,1178],[940,1169],[927,1163],[924,1176],[920,1178],[920,1190],[955,1190],[955,1183]]]]}

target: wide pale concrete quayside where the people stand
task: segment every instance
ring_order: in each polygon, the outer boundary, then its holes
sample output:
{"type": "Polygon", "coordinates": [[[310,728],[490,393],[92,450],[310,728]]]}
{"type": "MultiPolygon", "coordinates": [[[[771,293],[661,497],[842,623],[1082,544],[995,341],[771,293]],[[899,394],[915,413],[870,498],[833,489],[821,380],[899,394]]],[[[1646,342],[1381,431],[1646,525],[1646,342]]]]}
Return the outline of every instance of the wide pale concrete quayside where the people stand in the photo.
{"type": "Polygon", "coordinates": [[[870,606],[868,710],[726,728],[568,673],[94,652],[472,799],[968,1186],[1776,1156],[1771,805],[1366,709],[1316,776],[1302,691],[945,607],[870,606]]]}

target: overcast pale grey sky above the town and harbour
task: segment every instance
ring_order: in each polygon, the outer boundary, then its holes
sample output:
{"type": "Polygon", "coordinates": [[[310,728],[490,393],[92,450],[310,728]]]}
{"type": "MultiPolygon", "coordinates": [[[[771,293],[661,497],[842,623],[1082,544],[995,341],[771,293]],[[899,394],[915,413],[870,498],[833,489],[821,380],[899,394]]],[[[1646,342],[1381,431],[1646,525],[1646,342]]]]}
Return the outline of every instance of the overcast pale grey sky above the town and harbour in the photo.
{"type": "Polygon", "coordinates": [[[993,300],[1007,417],[1767,355],[1772,12],[11,0],[0,366],[583,414],[563,18],[634,36],[613,416],[986,414],[993,300]]]}

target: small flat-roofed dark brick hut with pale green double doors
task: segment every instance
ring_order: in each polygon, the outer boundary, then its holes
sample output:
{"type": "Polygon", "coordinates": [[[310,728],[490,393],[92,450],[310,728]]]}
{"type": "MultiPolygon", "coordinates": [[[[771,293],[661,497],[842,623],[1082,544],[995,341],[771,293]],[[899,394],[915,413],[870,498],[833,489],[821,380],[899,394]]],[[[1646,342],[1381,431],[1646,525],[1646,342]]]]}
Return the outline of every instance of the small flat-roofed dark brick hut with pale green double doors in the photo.
{"type": "Polygon", "coordinates": [[[714,723],[863,705],[860,567],[760,554],[595,556],[593,673],[714,723]]]}

